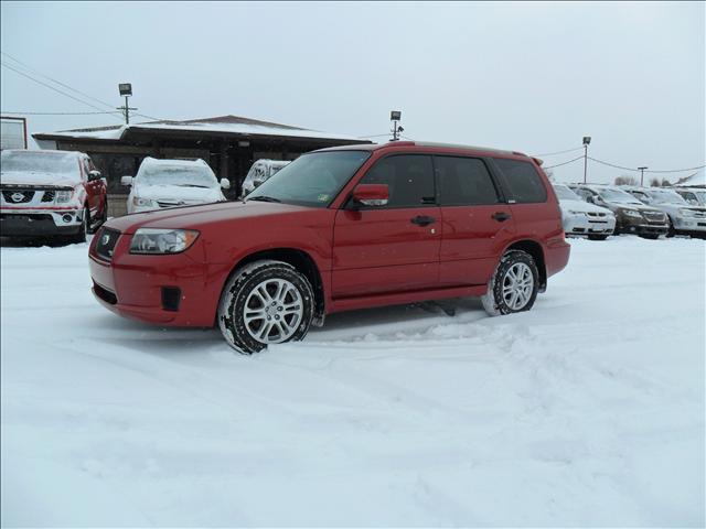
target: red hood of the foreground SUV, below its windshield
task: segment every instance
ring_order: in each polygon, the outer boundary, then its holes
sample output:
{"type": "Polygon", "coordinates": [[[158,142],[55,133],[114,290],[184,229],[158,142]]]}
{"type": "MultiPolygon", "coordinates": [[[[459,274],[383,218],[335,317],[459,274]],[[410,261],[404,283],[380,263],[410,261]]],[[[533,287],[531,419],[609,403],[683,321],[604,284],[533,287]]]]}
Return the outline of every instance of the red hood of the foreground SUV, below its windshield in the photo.
{"type": "Polygon", "coordinates": [[[138,228],[183,228],[199,229],[206,224],[224,220],[257,219],[274,215],[288,215],[311,212],[313,208],[290,204],[272,204],[267,202],[218,202],[195,206],[170,207],[152,212],[136,213],[124,217],[111,218],[105,226],[124,234],[133,234],[138,228]]]}

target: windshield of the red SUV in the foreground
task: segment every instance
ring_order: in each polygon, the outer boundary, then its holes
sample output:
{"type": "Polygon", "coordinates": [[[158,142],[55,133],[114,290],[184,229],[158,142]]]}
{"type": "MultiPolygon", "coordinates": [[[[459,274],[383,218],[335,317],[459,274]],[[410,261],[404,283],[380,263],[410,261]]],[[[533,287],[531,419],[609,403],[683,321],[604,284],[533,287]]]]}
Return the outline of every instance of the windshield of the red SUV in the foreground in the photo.
{"type": "Polygon", "coordinates": [[[328,207],[370,155],[368,151],[303,154],[247,195],[247,199],[328,207]]]}

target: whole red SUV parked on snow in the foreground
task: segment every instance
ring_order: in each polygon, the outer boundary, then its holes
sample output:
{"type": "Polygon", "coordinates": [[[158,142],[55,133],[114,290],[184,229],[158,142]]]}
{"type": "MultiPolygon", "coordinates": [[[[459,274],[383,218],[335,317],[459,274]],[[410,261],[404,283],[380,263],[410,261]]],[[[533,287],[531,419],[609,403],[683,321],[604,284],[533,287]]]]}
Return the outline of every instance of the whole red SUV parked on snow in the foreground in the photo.
{"type": "Polygon", "coordinates": [[[303,154],[242,203],[111,219],[89,253],[106,307],[217,324],[254,353],[353,309],[478,295],[527,311],[569,246],[537,160],[399,141],[303,154]]]}

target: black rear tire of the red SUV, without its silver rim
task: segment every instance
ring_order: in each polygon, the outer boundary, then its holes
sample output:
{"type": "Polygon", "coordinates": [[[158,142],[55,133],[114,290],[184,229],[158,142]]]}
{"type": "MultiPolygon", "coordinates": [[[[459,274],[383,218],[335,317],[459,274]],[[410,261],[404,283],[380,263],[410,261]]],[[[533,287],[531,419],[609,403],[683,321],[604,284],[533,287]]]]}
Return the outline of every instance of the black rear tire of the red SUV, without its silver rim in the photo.
{"type": "Polygon", "coordinates": [[[488,292],[481,296],[481,301],[483,303],[483,309],[485,309],[485,312],[491,316],[512,314],[532,309],[532,305],[534,305],[534,302],[537,299],[538,291],[539,272],[533,257],[526,251],[510,250],[500,259],[500,263],[488,283],[488,292]],[[512,281],[509,273],[516,264],[525,264],[530,269],[530,273],[532,276],[532,291],[528,295],[525,294],[526,300],[524,300],[524,303],[521,306],[511,306],[511,304],[509,304],[509,300],[503,295],[503,290],[506,283],[512,281]]]}

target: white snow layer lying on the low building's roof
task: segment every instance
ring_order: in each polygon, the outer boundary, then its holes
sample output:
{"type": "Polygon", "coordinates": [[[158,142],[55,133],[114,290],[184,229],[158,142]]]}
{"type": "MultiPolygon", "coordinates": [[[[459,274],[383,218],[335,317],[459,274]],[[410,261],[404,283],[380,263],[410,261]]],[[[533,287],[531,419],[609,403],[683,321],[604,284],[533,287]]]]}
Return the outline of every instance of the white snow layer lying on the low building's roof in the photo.
{"type": "Polygon", "coordinates": [[[47,138],[90,138],[97,140],[120,140],[126,131],[135,130],[180,130],[207,133],[224,133],[238,136],[280,136],[291,138],[313,138],[329,140],[346,140],[365,143],[352,136],[332,134],[318,130],[302,129],[289,125],[260,121],[257,119],[242,118],[239,116],[220,116],[215,118],[192,119],[192,120],[162,120],[148,121],[143,123],[99,127],[93,129],[62,130],[58,132],[46,132],[32,134],[35,139],[47,138]]]}

